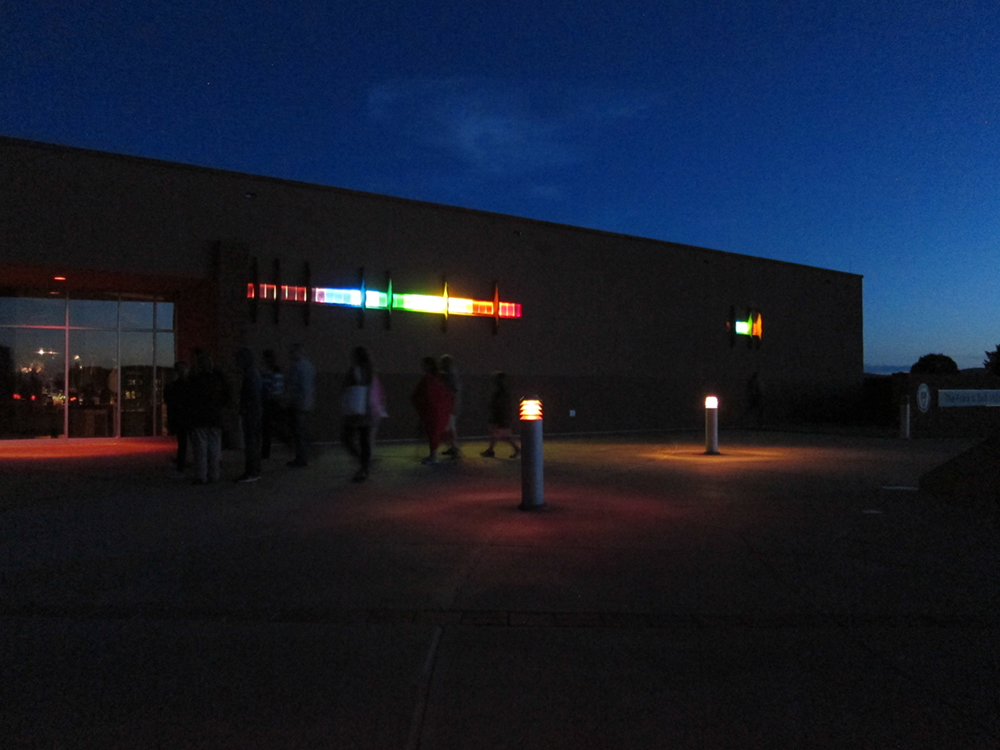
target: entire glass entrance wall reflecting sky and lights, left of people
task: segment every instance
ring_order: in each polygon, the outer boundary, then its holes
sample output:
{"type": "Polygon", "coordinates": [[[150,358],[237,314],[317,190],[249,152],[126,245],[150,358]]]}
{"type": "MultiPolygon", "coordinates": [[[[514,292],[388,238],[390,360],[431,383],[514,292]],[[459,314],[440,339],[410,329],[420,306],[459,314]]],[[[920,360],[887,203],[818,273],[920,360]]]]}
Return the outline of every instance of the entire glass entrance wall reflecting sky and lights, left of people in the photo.
{"type": "Polygon", "coordinates": [[[170,302],[0,297],[0,438],[67,426],[70,437],[162,434],[174,312],[170,302]]]}

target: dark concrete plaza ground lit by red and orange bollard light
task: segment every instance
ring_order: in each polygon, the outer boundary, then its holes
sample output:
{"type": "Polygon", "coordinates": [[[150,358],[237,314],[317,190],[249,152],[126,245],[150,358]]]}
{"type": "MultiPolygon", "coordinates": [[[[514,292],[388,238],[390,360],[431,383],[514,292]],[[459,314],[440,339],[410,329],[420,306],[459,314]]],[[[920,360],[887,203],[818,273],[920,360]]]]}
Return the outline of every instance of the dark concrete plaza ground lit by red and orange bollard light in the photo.
{"type": "Polygon", "coordinates": [[[532,513],[474,443],[0,445],[0,747],[1000,746],[997,527],[914,489],[968,445],[547,439],[532,513]]]}

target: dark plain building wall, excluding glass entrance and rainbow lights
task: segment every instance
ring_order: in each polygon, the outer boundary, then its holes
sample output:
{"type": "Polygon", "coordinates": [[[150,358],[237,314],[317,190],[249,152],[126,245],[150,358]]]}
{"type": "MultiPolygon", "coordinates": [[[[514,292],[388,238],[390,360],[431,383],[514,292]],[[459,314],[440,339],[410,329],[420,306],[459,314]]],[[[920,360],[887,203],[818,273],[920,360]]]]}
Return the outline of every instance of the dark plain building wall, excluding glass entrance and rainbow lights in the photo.
{"type": "MultiPolygon", "coordinates": [[[[485,432],[489,374],[537,393],[550,431],[697,427],[709,392],[723,425],[746,414],[759,372],[767,420],[807,417],[862,381],[861,277],[668,242],[347,190],[151,160],[0,139],[0,264],[87,269],[133,279],[173,279],[180,354],[208,346],[217,359],[239,345],[273,348],[284,362],[302,342],[320,371],[317,423],[337,422],[336,390],[351,347],[366,345],[390,396],[386,436],[413,434],[408,403],[420,358],[451,353],[463,374],[464,433],[485,432]],[[256,262],[269,281],[500,297],[519,320],[395,312],[364,327],[355,310],[244,298],[256,262]],[[188,283],[190,282],[190,283],[188,283]],[[730,343],[730,306],[764,317],[762,346],[730,343]],[[570,417],[573,409],[575,417],[570,417]]],[[[26,270],[27,269],[27,270],[26,270]]],[[[111,277],[108,276],[110,279],[111,277]]],[[[2,286],[0,282],[0,286],[2,286]]]]}

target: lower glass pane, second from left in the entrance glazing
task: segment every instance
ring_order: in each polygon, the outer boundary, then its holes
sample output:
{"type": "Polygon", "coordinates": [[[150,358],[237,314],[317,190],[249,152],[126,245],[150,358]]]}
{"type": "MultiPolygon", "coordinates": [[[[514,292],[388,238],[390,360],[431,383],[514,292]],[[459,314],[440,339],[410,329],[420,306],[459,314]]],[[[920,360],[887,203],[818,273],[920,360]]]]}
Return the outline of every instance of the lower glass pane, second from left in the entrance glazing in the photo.
{"type": "Polygon", "coordinates": [[[114,437],[118,332],[69,332],[69,436],[114,437]]]}

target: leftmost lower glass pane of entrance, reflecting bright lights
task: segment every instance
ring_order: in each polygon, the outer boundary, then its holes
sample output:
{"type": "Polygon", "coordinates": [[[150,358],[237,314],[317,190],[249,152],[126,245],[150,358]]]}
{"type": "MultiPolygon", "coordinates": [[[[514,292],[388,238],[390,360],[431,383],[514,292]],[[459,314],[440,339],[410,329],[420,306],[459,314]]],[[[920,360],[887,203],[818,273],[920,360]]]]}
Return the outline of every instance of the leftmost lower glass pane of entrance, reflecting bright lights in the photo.
{"type": "Polygon", "coordinates": [[[63,433],[65,329],[0,329],[0,436],[63,433]]]}

